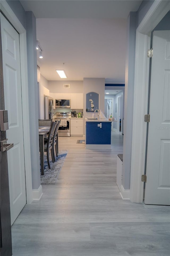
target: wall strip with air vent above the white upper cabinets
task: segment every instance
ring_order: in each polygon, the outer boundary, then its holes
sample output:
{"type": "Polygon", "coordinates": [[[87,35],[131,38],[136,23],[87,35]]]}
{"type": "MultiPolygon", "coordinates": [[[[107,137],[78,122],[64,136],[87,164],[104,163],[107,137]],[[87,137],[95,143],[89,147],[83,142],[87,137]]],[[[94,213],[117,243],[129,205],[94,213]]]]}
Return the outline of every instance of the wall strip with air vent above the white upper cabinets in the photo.
{"type": "Polygon", "coordinates": [[[83,81],[48,81],[50,93],[83,93],[83,81]],[[64,88],[70,84],[70,88],[64,88]]]}

